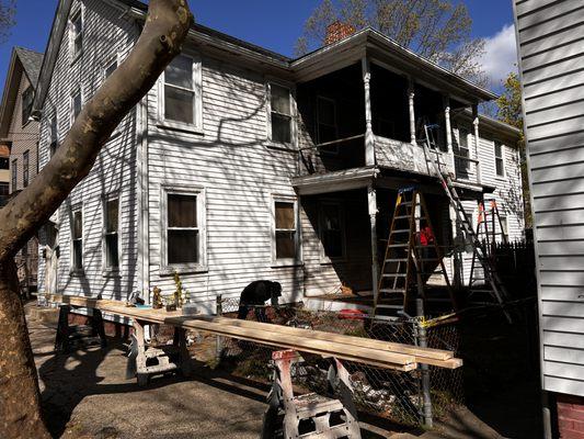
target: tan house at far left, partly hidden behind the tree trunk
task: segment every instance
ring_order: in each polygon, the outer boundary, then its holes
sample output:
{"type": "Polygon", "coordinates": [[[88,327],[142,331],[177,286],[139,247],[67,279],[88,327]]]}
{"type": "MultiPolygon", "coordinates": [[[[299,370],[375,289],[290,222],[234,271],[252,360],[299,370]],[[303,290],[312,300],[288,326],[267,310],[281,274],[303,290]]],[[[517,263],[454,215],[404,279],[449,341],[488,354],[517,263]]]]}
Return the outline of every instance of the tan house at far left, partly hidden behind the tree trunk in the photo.
{"type": "MultiPolygon", "coordinates": [[[[42,63],[43,54],[23,47],[12,49],[0,108],[0,144],[10,148],[10,157],[0,158],[0,164],[5,169],[10,164],[10,196],[26,188],[38,170],[38,122],[31,113],[42,63]]],[[[22,288],[34,291],[38,268],[36,237],[19,251],[16,267],[22,288]]]]}

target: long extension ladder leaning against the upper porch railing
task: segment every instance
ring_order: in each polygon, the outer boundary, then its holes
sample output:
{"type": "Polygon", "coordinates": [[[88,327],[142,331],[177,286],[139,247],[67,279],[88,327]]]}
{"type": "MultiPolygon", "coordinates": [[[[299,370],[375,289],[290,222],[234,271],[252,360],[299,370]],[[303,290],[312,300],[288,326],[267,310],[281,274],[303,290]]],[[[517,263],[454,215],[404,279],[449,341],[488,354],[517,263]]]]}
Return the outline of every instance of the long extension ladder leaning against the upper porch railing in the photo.
{"type": "Polygon", "coordinates": [[[460,201],[460,196],[458,195],[458,192],[453,183],[451,176],[446,169],[438,167],[432,156],[432,130],[435,130],[436,127],[437,125],[424,126],[426,137],[421,142],[421,144],[426,155],[426,161],[431,165],[435,177],[440,180],[444,192],[446,193],[446,196],[448,198],[448,201],[455,211],[457,225],[465,235],[465,241],[468,241],[472,246],[473,259],[476,259],[482,267],[484,274],[484,290],[482,292],[488,293],[499,305],[502,306],[507,322],[512,323],[509,313],[504,308],[504,302],[508,295],[503,282],[501,281],[501,278],[499,277],[499,273],[496,272],[496,267],[490,258],[489,250],[473,230],[469,215],[465,210],[465,206],[460,201]]]}

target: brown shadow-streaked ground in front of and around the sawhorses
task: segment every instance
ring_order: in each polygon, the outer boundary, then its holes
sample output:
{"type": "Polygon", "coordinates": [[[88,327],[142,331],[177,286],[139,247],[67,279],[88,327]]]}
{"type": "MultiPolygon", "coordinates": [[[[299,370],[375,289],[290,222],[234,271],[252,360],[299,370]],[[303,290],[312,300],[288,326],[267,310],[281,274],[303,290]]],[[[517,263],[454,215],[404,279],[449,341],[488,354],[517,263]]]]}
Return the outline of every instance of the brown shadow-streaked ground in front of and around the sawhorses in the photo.
{"type": "MultiPolygon", "coordinates": [[[[32,304],[27,308],[30,311],[32,304]]],[[[162,376],[142,389],[135,380],[125,379],[126,346],[122,341],[112,339],[106,349],[89,347],[57,354],[54,351],[54,326],[28,317],[28,328],[45,417],[55,438],[226,439],[260,436],[267,392],[265,385],[211,371],[198,363],[194,378],[162,376]]],[[[499,404],[511,406],[508,404],[515,403],[513,392],[509,389],[511,396],[501,395],[499,404]]],[[[479,404],[474,412],[492,426],[501,427],[501,431],[508,428],[505,423],[497,425],[501,416],[496,407],[490,410],[489,404],[479,404]]],[[[517,432],[511,430],[501,436],[465,407],[453,409],[433,431],[403,431],[399,426],[369,419],[366,414],[359,416],[364,438],[538,437],[523,435],[530,434],[527,431],[515,436],[517,432]]]]}

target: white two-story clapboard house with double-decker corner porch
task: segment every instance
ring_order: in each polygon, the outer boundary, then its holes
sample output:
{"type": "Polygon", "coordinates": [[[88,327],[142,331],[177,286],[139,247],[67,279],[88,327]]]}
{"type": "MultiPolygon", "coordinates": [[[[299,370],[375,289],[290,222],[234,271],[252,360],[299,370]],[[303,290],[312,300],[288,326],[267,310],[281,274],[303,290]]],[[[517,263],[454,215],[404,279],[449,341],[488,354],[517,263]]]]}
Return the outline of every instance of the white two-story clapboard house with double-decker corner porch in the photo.
{"type": "MultiPolygon", "coordinates": [[[[137,1],[69,5],[35,100],[41,167],[146,16],[137,1]]],[[[435,154],[458,172],[471,215],[494,191],[504,233],[519,239],[518,132],[477,116],[493,98],[373,30],[290,59],[196,24],[45,227],[41,290],[148,297],[171,292],[178,271],[190,300],[209,306],[257,279],[280,282],[285,301],[341,283],[371,291],[398,189],[420,185],[436,235],[453,241],[417,145],[424,121],[451,125],[435,154]]]]}

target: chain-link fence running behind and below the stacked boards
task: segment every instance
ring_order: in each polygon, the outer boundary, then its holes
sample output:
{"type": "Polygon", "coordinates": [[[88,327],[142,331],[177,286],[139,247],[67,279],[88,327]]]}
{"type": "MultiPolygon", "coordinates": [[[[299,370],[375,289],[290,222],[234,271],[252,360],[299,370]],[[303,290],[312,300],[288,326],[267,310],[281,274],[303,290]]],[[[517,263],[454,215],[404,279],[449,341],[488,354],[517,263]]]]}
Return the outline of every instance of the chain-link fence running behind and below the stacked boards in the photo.
{"type": "MultiPolygon", "coordinates": [[[[238,299],[218,302],[218,314],[237,317],[238,299]]],[[[364,314],[312,312],[297,305],[276,308],[256,307],[248,314],[254,319],[276,325],[310,328],[327,333],[399,342],[419,344],[419,319],[375,319],[364,314]]],[[[456,323],[446,322],[426,328],[427,346],[458,351],[459,336],[456,323]]],[[[249,379],[270,382],[272,352],[280,350],[255,342],[219,338],[217,353],[221,356],[221,368],[249,379]]],[[[327,393],[327,370],[330,361],[319,356],[302,353],[304,362],[294,370],[293,382],[300,392],[327,393]]],[[[402,425],[417,426],[423,419],[423,386],[420,369],[401,372],[343,361],[351,374],[354,401],[357,407],[371,415],[387,418],[402,425]]],[[[462,403],[461,370],[430,367],[430,395],[435,417],[439,417],[455,404],[462,403]]]]}

